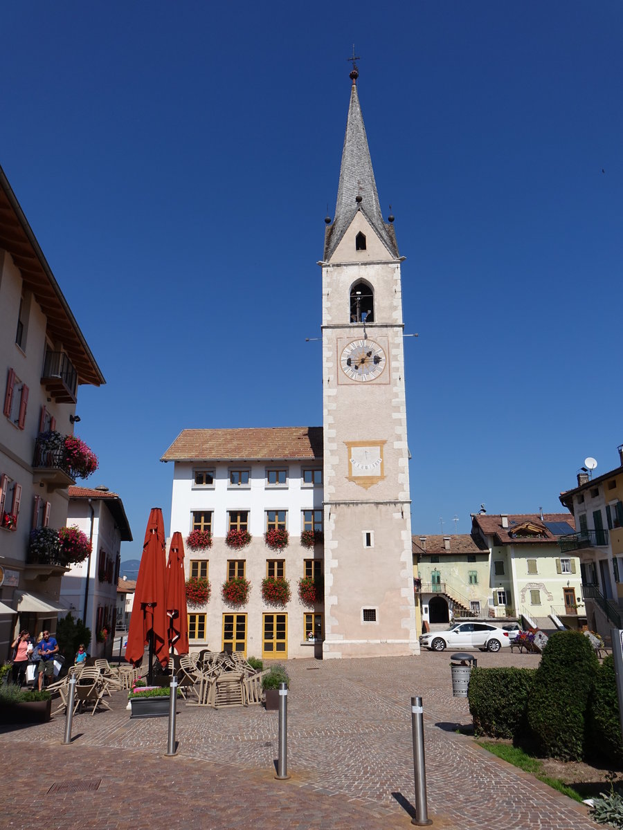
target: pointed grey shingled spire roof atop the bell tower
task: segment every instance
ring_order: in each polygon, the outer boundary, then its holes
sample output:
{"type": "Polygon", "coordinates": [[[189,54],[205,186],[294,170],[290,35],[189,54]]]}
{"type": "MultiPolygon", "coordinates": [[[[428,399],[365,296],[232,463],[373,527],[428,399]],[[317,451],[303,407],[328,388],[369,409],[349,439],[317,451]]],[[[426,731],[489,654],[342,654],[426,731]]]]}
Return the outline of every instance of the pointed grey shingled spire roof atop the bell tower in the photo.
{"type": "Polygon", "coordinates": [[[394,227],[383,222],[380,212],[379,194],[376,191],[375,174],[357,95],[358,74],[354,67],[351,71],[351,105],[348,108],[346,136],[341,154],[336,215],[333,224],[325,232],[325,261],[331,258],[358,210],[363,212],[392,256],[398,256],[394,227]]]}

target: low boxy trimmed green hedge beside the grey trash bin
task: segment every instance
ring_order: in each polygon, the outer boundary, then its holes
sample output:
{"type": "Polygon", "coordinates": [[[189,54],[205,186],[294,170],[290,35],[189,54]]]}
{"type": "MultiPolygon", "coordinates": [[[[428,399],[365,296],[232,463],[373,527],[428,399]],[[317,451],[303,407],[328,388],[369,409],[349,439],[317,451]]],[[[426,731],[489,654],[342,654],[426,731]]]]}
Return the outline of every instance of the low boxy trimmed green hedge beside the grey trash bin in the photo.
{"type": "Polygon", "coordinates": [[[536,669],[472,669],[469,712],[475,735],[515,738],[526,730],[527,699],[536,669]]]}

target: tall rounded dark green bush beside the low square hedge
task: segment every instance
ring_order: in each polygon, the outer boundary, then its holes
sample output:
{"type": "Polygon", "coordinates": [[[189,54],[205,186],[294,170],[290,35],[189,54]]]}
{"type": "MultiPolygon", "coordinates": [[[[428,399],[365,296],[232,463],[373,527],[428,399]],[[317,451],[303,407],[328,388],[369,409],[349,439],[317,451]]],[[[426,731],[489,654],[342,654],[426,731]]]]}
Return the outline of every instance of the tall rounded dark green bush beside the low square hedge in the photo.
{"type": "Polygon", "coordinates": [[[598,668],[595,651],[581,632],[561,631],[549,638],[527,701],[527,721],[543,755],[563,761],[582,758],[598,668]]]}

